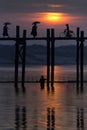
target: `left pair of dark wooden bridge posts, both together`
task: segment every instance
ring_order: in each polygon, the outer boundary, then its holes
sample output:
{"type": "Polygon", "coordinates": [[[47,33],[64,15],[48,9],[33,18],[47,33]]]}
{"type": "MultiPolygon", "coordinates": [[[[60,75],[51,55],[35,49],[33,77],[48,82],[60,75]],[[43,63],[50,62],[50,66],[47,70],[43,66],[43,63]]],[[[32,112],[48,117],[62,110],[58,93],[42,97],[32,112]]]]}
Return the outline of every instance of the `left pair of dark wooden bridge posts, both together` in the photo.
{"type": "Polygon", "coordinates": [[[20,38],[20,28],[16,27],[16,44],[15,44],[15,90],[18,91],[18,74],[19,62],[22,66],[21,85],[25,91],[25,55],[26,54],[26,30],[23,31],[23,38],[20,38]]]}

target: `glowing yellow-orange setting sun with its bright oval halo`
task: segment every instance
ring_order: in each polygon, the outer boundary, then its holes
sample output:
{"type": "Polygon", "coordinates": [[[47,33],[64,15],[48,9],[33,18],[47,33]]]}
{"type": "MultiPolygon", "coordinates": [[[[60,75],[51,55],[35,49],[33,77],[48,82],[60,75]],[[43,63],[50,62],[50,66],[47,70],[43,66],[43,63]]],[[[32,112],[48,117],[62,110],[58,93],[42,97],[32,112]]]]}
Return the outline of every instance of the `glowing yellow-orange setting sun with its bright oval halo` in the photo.
{"type": "Polygon", "coordinates": [[[22,19],[20,18],[19,20],[23,23],[26,21],[28,24],[29,22],[32,23],[33,21],[39,21],[43,27],[54,27],[58,26],[58,24],[63,25],[73,22],[75,17],[63,12],[38,12],[22,15],[22,19]]]}

